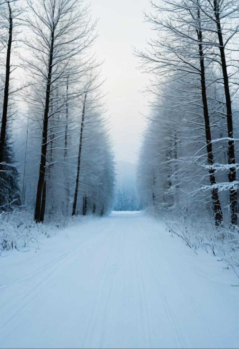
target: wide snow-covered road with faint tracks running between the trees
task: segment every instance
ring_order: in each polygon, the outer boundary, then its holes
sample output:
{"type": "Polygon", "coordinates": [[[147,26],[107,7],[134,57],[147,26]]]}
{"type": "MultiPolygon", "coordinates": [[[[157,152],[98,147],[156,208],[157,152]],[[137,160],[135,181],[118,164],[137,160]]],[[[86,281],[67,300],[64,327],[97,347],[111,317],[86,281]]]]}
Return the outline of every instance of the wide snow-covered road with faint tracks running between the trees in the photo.
{"type": "Polygon", "coordinates": [[[0,258],[1,348],[239,347],[234,274],[161,223],[113,214],[61,235],[0,258]]]}

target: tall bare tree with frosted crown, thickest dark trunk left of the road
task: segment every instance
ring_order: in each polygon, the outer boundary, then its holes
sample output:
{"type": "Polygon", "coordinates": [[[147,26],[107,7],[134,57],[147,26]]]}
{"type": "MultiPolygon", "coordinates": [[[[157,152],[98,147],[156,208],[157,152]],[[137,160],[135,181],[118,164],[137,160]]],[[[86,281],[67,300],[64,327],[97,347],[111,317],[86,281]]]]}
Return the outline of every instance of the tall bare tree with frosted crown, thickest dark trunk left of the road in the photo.
{"type": "Polygon", "coordinates": [[[93,43],[95,23],[90,23],[88,7],[83,8],[79,0],[40,0],[37,4],[29,0],[28,6],[31,16],[27,21],[33,37],[31,40],[26,40],[26,44],[34,58],[26,62],[41,95],[43,113],[41,161],[35,207],[35,221],[42,222],[46,155],[48,144],[52,142],[48,138],[49,118],[65,109],[64,86],[67,86],[70,80],[75,80],[81,72],[79,64],[72,62],[80,60],[86,53],[87,47],[93,43]],[[43,88],[45,88],[44,97],[43,88]],[[54,96],[55,88],[63,91],[61,96],[54,96]],[[53,112],[49,113],[51,101],[53,112]],[[58,106],[56,101],[59,101],[58,106]]]}

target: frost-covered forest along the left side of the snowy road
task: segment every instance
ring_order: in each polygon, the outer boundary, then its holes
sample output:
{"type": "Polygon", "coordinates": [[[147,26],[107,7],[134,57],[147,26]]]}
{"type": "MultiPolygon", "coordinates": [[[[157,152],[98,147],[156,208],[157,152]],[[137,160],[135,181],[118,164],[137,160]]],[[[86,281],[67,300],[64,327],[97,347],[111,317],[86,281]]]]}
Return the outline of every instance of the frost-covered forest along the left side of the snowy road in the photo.
{"type": "Polygon", "coordinates": [[[26,246],[19,237],[35,223],[109,213],[114,198],[111,126],[89,6],[20,4],[3,2],[0,13],[1,249],[26,246]]]}

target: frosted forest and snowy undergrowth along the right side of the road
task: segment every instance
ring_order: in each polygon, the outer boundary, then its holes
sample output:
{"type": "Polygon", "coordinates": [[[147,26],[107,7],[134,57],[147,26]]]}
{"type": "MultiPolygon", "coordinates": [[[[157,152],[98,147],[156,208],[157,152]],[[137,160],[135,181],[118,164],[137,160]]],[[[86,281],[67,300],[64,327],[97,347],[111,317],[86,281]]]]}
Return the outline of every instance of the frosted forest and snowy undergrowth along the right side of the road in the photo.
{"type": "Polygon", "coordinates": [[[135,49],[151,77],[140,201],[188,246],[238,268],[238,2],[152,7],[145,20],[156,35],[135,49]]]}

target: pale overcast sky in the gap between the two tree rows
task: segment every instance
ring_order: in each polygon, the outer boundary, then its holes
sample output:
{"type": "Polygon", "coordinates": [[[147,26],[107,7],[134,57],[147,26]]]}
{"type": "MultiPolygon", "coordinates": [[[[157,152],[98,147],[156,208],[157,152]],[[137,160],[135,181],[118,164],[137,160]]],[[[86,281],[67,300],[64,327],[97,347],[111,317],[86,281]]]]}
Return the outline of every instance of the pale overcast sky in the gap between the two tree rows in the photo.
{"type": "Polygon", "coordinates": [[[102,74],[107,78],[104,90],[108,91],[117,160],[135,162],[139,146],[139,133],[147,99],[137,92],[146,85],[148,76],[136,69],[137,58],[132,47],[143,49],[152,35],[149,23],[143,23],[143,9],[149,12],[148,0],[92,0],[92,16],[99,18],[99,37],[95,51],[105,60],[102,74]]]}

